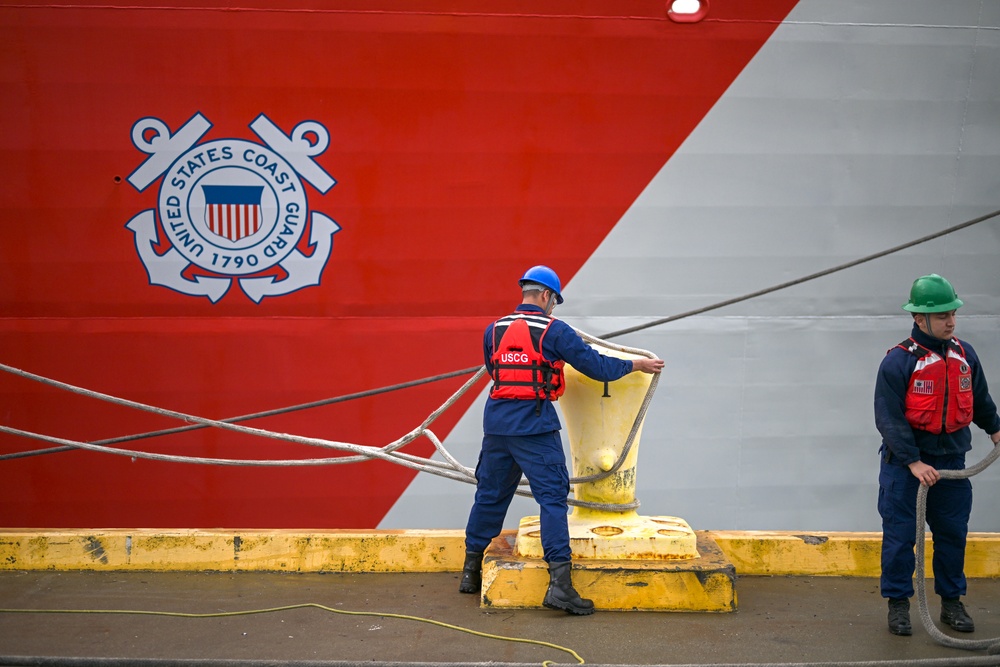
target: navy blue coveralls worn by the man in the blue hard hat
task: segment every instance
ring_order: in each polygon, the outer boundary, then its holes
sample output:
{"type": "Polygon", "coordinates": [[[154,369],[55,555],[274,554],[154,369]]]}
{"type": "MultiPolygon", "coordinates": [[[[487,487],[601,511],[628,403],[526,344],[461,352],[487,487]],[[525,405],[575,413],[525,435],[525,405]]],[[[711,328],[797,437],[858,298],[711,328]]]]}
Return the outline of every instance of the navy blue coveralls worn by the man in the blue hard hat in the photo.
{"type": "MultiPolygon", "coordinates": [[[[538,306],[521,304],[519,313],[539,313],[538,306]]],[[[632,372],[632,362],[607,357],[587,345],[565,322],[553,320],[542,341],[549,361],[565,361],[584,375],[611,382],[632,372]]],[[[483,357],[492,373],[493,324],[483,336],[483,357]]],[[[503,529],[507,508],[523,471],[539,506],[542,552],[547,563],[570,560],[566,520],[569,473],[559,437],[559,415],[551,401],[486,399],[483,410],[483,448],[476,464],[476,500],[465,528],[465,549],[479,553],[503,529]],[[540,412],[536,414],[536,409],[540,412]]]]}

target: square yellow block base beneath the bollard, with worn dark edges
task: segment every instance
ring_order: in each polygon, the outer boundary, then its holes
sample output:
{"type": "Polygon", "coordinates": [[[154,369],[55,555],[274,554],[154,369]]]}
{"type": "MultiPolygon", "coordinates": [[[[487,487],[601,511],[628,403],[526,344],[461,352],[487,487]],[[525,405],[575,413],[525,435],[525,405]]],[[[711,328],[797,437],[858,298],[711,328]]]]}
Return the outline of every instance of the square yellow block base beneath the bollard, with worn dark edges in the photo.
{"type": "MultiPolygon", "coordinates": [[[[736,611],[736,568],[705,533],[697,558],[573,561],[573,586],[598,611],[736,611]]],[[[514,531],[493,540],[483,559],[480,606],[542,609],[548,566],[514,551],[514,531]]]]}

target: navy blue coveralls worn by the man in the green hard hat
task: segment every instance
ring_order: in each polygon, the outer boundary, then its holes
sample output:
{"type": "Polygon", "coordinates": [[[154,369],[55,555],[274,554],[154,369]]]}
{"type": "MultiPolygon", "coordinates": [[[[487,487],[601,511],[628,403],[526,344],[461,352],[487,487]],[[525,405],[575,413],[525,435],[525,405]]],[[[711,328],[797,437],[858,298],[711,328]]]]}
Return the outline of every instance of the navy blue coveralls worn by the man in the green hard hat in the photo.
{"type": "MultiPolygon", "coordinates": [[[[928,350],[946,355],[945,342],[928,336],[916,324],[910,336],[928,350]]],[[[990,398],[979,357],[971,345],[959,342],[972,369],[972,421],[987,433],[996,433],[1000,431],[1000,416],[990,398]]],[[[920,481],[907,466],[920,460],[938,470],[962,470],[965,453],[972,449],[972,430],[968,426],[954,433],[933,434],[915,429],[906,421],[906,392],[916,365],[915,356],[895,347],[882,360],[875,382],[875,426],[882,434],[878,511],[882,516],[881,588],[885,598],[913,596],[920,481]]],[[[971,511],[972,484],[968,479],[940,479],[928,489],[934,592],[943,598],[965,595],[965,540],[971,511]]]]}

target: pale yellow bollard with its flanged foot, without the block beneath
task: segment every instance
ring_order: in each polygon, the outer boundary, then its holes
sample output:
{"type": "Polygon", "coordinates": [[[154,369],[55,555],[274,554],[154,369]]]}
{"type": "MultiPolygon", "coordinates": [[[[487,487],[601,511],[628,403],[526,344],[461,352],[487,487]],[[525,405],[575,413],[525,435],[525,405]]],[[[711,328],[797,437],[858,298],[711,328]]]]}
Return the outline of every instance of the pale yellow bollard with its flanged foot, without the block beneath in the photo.
{"type": "MultiPolygon", "coordinates": [[[[594,346],[596,347],[596,346],[594,346]]],[[[637,355],[598,348],[622,359],[637,355]]],[[[697,558],[697,539],[683,519],[640,516],[635,495],[640,423],[631,447],[628,435],[642,407],[653,376],[630,373],[605,384],[567,365],[566,392],[560,398],[570,445],[571,476],[599,479],[573,485],[573,497],[586,505],[574,506],[569,516],[574,558],[686,559],[697,558]],[[621,460],[615,469],[615,464],[621,460]]],[[[515,542],[518,555],[541,558],[537,516],[521,520],[515,542]]]]}

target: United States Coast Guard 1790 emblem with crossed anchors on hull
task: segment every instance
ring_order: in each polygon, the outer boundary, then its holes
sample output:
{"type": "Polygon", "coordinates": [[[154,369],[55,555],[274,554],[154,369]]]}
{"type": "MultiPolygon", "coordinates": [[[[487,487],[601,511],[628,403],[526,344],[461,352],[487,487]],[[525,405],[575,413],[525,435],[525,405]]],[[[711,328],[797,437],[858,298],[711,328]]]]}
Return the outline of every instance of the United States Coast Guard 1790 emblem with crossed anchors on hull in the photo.
{"type": "Polygon", "coordinates": [[[156,210],[126,225],[150,284],[212,303],[234,282],[255,303],[319,285],[340,226],[309,210],[303,181],[320,194],[336,184],[313,159],[326,128],[305,121],[288,136],[262,114],[250,129],[263,143],[199,143],[211,127],[200,113],[174,133],[157,118],[132,126],[149,157],[128,182],[142,192],[162,178],[156,210]]]}

